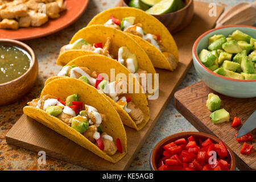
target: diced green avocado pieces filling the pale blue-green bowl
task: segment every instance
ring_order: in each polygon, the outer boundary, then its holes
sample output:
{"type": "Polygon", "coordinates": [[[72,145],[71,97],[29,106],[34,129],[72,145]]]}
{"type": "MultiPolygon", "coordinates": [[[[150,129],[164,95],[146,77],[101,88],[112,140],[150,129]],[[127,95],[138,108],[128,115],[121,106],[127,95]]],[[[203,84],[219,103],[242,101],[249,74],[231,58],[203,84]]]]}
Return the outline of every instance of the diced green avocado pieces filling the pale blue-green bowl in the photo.
{"type": "Polygon", "coordinates": [[[208,49],[199,53],[200,61],[210,71],[229,78],[254,80],[256,75],[256,39],[240,30],[225,38],[208,38],[208,49]]]}

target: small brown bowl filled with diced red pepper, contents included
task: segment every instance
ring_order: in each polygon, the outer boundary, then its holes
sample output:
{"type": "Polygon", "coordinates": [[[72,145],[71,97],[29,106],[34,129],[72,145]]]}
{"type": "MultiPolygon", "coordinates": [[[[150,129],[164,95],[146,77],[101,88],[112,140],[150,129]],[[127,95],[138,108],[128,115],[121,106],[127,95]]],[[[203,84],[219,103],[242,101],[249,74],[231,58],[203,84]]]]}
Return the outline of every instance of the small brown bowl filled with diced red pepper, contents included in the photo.
{"type": "Polygon", "coordinates": [[[200,132],[164,138],[151,152],[153,171],[234,171],[232,150],[220,139],[200,132]]]}

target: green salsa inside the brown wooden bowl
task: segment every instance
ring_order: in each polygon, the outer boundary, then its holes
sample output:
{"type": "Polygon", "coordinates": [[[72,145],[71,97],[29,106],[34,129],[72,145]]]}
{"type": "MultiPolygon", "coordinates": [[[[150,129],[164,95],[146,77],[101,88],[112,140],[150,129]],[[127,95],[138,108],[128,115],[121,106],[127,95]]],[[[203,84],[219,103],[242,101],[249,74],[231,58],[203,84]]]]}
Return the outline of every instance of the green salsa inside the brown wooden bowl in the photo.
{"type": "Polygon", "coordinates": [[[22,48],[0,45],[0,84],[22,76],[30,68],[31,56],[22,48]]]}

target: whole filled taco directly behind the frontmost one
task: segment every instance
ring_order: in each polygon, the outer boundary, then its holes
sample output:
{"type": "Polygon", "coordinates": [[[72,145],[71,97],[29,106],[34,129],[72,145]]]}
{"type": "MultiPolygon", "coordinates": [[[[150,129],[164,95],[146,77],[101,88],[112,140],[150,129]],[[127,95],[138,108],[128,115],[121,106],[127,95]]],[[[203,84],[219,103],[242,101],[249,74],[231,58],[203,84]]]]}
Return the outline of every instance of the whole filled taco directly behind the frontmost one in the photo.
{"type": "Polygon", "coordinates": [[[77,78],[84,81],[86,84],[94,86],[102,93],[114,106],[120,115],[124,125],[132,127],[136,130],[141,130],[150,118],[148,102],[145,94],[142,92],[142,87],[138,80],[133,78],[132,85],[129,82],[129,70],[117,61],[102,55],[86,55],[77,57],[59,72],[59,76],[50,77],[46,81],[51,82],[63,76],[77,78]],[[102,66],[104,65],[104,66],[102,66]],[[114,80],[110,80],[111,71],[114,68],[114,80]],[[103,78],[103,74],[106,77],[103,78]],[[124,74],[127,80],[123,77],[117,78],[121,73],[124,74]],[[117,78],[117,79],[115,79],[117,78]],[[133,93],[127,92],[133,90],[133,93]],[[139,88],[139,93],[135,93],[135,88],[139,88]]]}

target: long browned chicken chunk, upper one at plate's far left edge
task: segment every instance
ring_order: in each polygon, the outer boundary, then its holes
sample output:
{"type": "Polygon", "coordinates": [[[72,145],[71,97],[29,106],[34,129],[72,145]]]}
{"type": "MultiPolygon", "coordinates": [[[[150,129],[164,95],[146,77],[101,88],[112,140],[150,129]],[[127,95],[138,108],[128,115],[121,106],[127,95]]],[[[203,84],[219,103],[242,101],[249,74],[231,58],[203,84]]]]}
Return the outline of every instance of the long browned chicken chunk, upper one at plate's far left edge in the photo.
{"type": "Polygon", "coordinates": [[[0,10],[1,18],[13,19],[16,17],[27,16],[27,6],[24,4],[7,6],[5,9],[0,10]]]}

